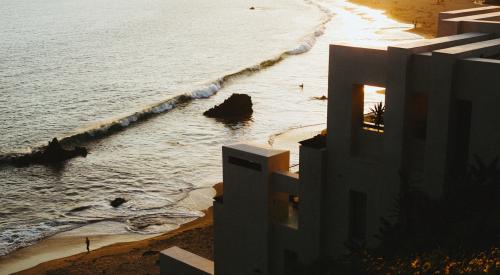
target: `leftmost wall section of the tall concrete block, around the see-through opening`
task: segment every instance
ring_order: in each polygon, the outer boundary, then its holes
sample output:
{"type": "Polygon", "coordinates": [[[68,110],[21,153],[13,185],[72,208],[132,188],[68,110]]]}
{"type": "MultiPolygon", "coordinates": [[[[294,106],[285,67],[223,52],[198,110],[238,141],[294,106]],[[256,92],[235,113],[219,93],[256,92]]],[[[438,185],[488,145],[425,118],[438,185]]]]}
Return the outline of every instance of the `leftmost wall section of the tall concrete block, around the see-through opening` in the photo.
{"type": "MultiPolygon", "coordinates": [[[[387,70],[391,69],[387,56],[386,50],[330,46],[328,161],[324,187],[328,199],[323,206],[323,230],[328,232],[325,234],[324,253],[329,257],[345,251],[344,243],[349,235],[350,191],[367,194],[366,238],[374,241],[371,236],[378,230],[378,218],[374,217],[380,216],[380,206],[384,205],[380,188],[386,181],[385,173],[381,172],[383,163],[377,161],[378,156],[365,154],[362,85],[386,86],[387,70]]],[[[374,143],[382,144],[384,134],[375,134],[374,143]]]]}

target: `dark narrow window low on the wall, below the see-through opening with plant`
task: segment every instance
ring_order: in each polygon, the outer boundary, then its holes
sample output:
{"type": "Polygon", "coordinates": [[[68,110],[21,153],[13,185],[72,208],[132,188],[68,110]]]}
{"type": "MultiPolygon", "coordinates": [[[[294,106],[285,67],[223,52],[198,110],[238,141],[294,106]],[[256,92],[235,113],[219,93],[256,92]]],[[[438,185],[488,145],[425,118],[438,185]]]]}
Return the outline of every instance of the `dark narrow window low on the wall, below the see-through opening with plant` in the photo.
{"type": "Polygon", "coordinates": [[[366,194],[349,191],[349,238],[366,239],[366,194]]]}

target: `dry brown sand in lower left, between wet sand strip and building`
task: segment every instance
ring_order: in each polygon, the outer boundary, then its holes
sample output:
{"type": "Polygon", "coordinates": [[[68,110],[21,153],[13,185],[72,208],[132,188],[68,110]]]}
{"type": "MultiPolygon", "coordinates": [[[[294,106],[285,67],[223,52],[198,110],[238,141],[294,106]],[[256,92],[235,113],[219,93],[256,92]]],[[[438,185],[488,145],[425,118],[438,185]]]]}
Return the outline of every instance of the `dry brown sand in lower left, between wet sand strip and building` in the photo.
{"type": "MultiPolygon", "coordinates": [[[[212,188],[215,189],[215,196],[222,194],[221,183],[214,185],[212,188]]],[[[45,261],[13,274],[143,274],[148,272],[158,274],[160,269],[158,264],[159,251],[174,245],[212,259],[213,242],[200,241],[212,238],[212,207],[210,206],[202,212],[204,212],[204,216],[155,237],[146,235],[144,239],[134,241],[119,239],[123,237],[119,235],[117,236],[118,242],[103,245],[98,249],[91,250],[89,253],[81,252],[72,256],[45,261]]],[[[82,237],[78,237],[80,251],[84,250],[83,240],[82,237]]],[[[65,244],[59,242],[53,245],[61,247],[65,244]]]]}

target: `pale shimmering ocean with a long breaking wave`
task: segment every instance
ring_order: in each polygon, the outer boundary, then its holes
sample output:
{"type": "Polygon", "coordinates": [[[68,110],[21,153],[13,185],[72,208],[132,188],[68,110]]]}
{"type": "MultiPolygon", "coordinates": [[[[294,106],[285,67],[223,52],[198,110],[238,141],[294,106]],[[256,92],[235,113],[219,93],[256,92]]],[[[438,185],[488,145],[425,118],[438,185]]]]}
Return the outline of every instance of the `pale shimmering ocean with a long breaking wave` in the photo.
{"type": "Polygon", "coordinates": [[[154,234],[199,217],[186,200],[221,181],[222,145],[326,125],[329,44],[420,39],[410,28],[344,0],[0,0],[0,159],[53,137],[89,150],[0,165],[0,256],[100,221],[154,234]],[[232,93],[251,120],[202,115],[232,93]]]}

